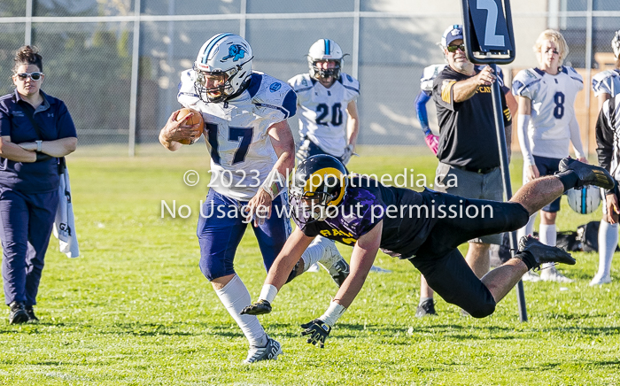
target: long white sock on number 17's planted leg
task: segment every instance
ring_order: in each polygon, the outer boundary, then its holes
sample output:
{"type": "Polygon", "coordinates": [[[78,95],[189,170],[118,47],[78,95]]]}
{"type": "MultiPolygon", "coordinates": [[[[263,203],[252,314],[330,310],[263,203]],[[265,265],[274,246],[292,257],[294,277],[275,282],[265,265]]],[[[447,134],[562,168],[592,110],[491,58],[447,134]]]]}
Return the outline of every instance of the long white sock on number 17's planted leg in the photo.
{"type": "Polygon", "coordinates": [[[245,288],[244,282],[237,275],[222,289],[216,289],[215,293],[220,297],[221,304],[229,311],[230,316],[236,321],[244,336],[253,347],[265,347],[267,334],[260,325],[255,315],[239,315],[244,307],[252,304],[250,292],[245,288]]]}

